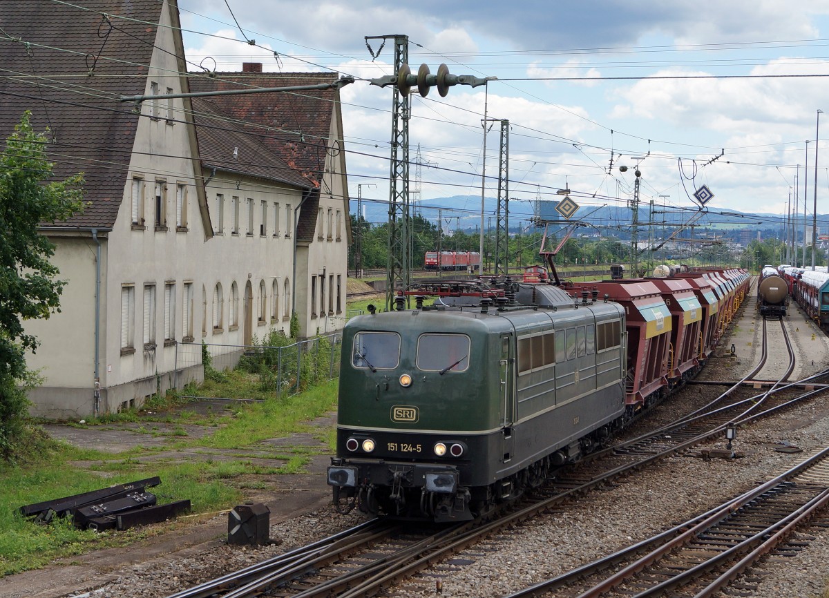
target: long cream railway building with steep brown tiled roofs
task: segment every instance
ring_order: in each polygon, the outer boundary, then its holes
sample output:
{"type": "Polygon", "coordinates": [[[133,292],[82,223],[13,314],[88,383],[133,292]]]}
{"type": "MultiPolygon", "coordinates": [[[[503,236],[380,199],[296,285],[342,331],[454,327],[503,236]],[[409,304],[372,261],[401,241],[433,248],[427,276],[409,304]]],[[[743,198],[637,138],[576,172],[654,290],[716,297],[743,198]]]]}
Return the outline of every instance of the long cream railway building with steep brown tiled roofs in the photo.
{"type": "Polygon", "coordinates": [[[0,81],[0,132],[30,110],[56,176],[85,176],[84,212],[41,227],[67,284],[60,313],[27,322],[42,341],[28,364],[45,379],[33,414],[138,406],[202,375],[197,358],[177,362],[184,347],[241,354],[294,311],[301,336],[342,328],[351,231],[336,86],[164,97],[337,74],[188,73],[176,0],[14,2],[2,27],[4,65],[21,76],[0,81]]]}

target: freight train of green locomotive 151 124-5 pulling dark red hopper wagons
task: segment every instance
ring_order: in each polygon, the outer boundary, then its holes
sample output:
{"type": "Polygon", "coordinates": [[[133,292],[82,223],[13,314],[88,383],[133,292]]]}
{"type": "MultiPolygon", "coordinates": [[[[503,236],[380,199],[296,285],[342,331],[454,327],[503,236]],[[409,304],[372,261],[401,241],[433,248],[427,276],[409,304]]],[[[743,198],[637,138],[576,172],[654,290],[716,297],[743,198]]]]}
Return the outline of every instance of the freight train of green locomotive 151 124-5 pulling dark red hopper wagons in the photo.
{"type": "Polygon", "coordinates": [[[742,270],[420,282],[342,339],[337,509],[468,520],[603,446],[710,357],[742,270]],[[434,306],[426,297],[436,297],[434,306]]]}

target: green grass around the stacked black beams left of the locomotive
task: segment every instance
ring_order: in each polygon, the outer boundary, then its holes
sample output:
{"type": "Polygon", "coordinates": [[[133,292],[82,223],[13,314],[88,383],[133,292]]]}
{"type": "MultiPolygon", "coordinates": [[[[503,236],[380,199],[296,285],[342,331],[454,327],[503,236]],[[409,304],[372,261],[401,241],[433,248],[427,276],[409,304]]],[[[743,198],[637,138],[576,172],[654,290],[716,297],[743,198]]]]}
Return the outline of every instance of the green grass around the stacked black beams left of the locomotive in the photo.
{"type": "MultiPolygon", "coordinates": [[[[238,370],[226,373],[227,383],[221,387],[208,381],[213,396],[238,393],[240,398],[251,398],[251,386],[259,385],[259,377],[238,370]],[[253,384],[251,384],[253,380],[253,384]]],[[[208,391],[210,392],[210,391],[208,391]]],[[[205,388],[199,388],[199,396],[211,396],[205,388]]],[[[237,403],[210,419],[221,427],[211,428],[213,433],[202,438],[187,436],[182,426],[167,432],[170,441],[166,446],[137,446],[118,454],[89,449],[79,449],[65,442],[51,441],[41,434],[39,441],[27,447],[18,465],[0,464],[0,576],[45,566],[56,558],[72,557],[104,547],[128,546],[148,534],[163,533],[165,529],[187,523],[167,523],[126,532],[95,533],[79,531],[69,523],[40,525],[22,518],[17,509],[47,499],[80,494],[108,485],[121,484],[151,475],[161,477],[162,484],[152,489],[158,504],[173,500],[190,499],[194,513],[211,513],[227,509],[244,499],[243,489],[264,489],[268,485],[257,476],[288,475],[306,471],[312,455],[333,449],[336,432],[315,431],[324,436],[327,445],[319,449],[308,446],[256,446],[256,443],[274,436],[288,436],[292,432],[310,431],[306,422],[331,411],[337,404],[337,381],[332,380],[290,397],[276,397],[274,393],[262,393],[263,403],[237,403]],[[140,457],[153,456],[159,451],[175,451],[204,448],[205,451],[221,450],[222,453],[206,459],[192,456],[171,459],[139,461],[140,457]],[[273,465],[253,463],[250,453],[227,449],[249,448],[261,451],[274,461],[273,465]],[[44,457],[40,457],[44,456],[44,457]],[[76,465],[85,462],[88,469],[76,465]],[[238,483],[235,481],[238,480],[238,483]]],[[[177,399],[176,399],[177,400],[177,399]]],[[[154,407],[153,410],[158,409],[154,407]]],[[[187,412],[187,419],[195,413],[187,412]]],[[[140,421],[136,432],[158,435],[158,427],[134,412],[123,412],[118,417],[102,417],[101,427],[117,423],[140,421]],[[133,417],[135,419],[133,420],[133,417]]],[[[165,414],[159,413],[163,420],[165,414]]],[[[164,420],[167,421],[167,420],[164,420]]],[[[181,421],[173,418],[173,422],[181,421]]],[[[90,427],[90,422],[80,427],[90,427]]],[[[259,457],[257,457],[257,460],[259,457]]]]}

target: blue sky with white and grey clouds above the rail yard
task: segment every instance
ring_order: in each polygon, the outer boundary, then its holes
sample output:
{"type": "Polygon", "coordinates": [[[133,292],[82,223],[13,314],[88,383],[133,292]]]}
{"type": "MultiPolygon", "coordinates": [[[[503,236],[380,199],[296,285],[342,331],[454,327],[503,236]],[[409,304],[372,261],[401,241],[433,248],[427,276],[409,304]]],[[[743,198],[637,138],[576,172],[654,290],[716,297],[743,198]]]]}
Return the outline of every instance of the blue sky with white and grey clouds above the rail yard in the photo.
{"type": "Polygon", "coordinates": [[[436,218],[429,200],[456,195],[468,196],[453,204],[458,215],[479,213],[483,169],[484,193],[497,195],[501,124],[485,135],[485,115],[509,122],[511,219],[562,189],[582,214],[625,205],[637,167],[640,200],[667,209],[690,208],[704,185],[711,211],[785,215],[797,198],[812,215],[817,177],[817,212],[829,214],[829,120],[817,113],[829,115],[829,0],[179,0],[179,9],[191,70],[255,61],[356,78],[341,91],[352,198],[388,200],[392,92],[368,80],[392,74],[394,44],[369,40],[370,51],[365,37],[402,34],[414,72],[444,63],[492,78],[445,98],[412,95],[410,159],[419,148],[423,166],[419,183],[411,167],[410,186],[424,217],[436,218]]]}

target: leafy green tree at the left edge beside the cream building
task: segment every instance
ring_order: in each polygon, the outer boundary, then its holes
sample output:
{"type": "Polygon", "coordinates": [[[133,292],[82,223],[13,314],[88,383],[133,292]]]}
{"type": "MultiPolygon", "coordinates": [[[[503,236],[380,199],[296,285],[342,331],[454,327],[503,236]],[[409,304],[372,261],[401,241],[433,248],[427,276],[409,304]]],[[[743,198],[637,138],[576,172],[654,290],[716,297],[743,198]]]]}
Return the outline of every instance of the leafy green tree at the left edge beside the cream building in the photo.
{"type": "Polygon", "coordinates": [[[82,207],[83,176],[49,181],[46,136],[23,118],[0,156],[0,456],[9,459],[26,416],[26,351],[39,345],[23,322],[60,311],[65,281],[49,261],[55,245],[38,233],[42,223],[65,220],[82,207]]]}

